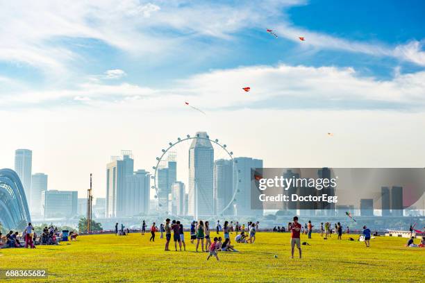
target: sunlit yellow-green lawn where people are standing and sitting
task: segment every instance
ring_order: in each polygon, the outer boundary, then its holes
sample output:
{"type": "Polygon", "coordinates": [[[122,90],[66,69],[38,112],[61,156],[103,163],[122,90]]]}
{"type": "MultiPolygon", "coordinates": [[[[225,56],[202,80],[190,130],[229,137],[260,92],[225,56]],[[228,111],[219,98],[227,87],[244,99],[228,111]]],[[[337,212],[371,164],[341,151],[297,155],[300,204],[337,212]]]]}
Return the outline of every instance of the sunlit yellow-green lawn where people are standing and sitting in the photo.
{"type": "MultiPolygon", "coordinates": [[[[212,233],[215,235],[215,233],[212,233]]],[[[0,268],[47,269],[49,282],[419,282],[424,280],[425,248],[405,248],[406,239],[377,237],[363,242],[332,237],[301,237],[311,246],[303,259],[290,259],[290,234],[258,232],[240,252],[165,252],[165,239],[149,243],[150,234],[78,237],[78,241],[36,249],[0,250],[0,268]],[[275,258],[274,255],[278,257],[275,258]]],[[[234,237],[234,234],[233,236],[234,237]]],[[[185,235],[189,239],[189,235],[185,235]]],[[[174,250],[174,243],[170,246],[174,250]]],[[[297,252],[297,250],[296,250],[297,252]]],[[[296,253],[297,255],[297,253],[296,253]]],[[[10,280],[10,282],[19,280],[10,280]]],[[[22,280],[34,282],[35,280],[22,280]]],[[[40,280],[42,282],[46,280],[40,280]]]]}

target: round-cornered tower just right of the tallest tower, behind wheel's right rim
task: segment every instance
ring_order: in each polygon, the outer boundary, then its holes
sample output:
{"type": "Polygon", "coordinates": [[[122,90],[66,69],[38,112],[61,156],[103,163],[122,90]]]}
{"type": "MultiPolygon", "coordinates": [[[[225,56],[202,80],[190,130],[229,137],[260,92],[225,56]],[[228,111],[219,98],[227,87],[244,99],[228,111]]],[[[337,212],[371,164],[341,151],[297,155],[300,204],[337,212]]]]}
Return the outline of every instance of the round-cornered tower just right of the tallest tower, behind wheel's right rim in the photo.
{"type": "Polygon", "coordinates": [[[233,214],[233,203],[231,203],[233,193],[233,162],[231,160],[216,160],[214,162],[215,214],[233,214]],[[228,206],[229,203],[230,206],[228,206]],[[224,211],[225,208],[226,211],[224,211]]]}

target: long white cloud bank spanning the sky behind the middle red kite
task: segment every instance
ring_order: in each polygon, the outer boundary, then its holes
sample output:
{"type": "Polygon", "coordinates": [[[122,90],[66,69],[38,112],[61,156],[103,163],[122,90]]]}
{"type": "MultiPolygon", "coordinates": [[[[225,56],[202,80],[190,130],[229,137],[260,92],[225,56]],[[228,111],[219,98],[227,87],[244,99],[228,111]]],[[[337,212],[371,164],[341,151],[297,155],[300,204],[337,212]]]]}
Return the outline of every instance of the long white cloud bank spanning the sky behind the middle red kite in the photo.
{"type": "Polygon", "coordinates": [[[253,66],[215,70],[179,80],[172,87],[152,89],[121,83],[84,83],[75,89],[26,91],[3,95],[0,105],[42,103],[85,98],[91,105],[124,103],[143,110],[180,109],[190,101],[203,109],[310,108],[344,109],[425,107],[425,71],[395,73],[390,80],[358,76],[353,68],[306,66],[253,66]],[[244,92],[242,87],[251,87],[244,92]],[[88,100],[90,98],[90,101],[88,100]]]}

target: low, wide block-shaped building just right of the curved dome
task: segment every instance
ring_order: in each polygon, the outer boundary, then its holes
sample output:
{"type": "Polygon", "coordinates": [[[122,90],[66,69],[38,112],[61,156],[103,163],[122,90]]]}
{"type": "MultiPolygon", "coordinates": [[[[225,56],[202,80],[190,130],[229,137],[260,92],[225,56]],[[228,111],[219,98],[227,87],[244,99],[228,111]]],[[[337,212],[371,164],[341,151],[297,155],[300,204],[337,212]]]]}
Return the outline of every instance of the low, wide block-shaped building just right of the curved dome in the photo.
{"type": "Polygon", "coordinates": [[[77,214],[78,191],[42,191],[44,218],[74,217],[77,214]]]}

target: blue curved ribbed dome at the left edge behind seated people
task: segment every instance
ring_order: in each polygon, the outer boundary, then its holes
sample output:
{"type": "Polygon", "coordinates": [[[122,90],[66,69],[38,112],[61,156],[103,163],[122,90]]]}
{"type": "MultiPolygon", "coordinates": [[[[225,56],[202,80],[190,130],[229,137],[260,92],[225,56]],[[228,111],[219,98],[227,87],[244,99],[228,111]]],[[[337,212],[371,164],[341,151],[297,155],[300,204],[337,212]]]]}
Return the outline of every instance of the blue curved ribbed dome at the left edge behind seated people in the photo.
{"type": "Polygon", "coordinates": [[[0,223],[6,229],[20,229],[31,222],[24,187],[17,173],[0,170],[0,223]]]}

